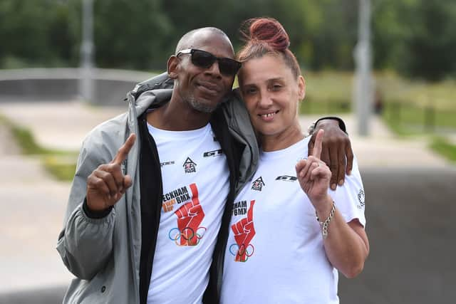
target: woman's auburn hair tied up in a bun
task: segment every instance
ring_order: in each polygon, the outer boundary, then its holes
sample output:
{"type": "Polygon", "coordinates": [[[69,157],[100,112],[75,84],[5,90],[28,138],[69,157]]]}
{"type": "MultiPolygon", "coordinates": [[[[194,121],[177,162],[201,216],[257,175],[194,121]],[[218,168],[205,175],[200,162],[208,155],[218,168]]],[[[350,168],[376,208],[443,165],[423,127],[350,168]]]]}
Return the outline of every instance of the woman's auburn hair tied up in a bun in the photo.
{"type": "Polygon", "coordinates": [[[241,62],[261,58],[266,54],[280,55],[291,69],[295,78],[301,75],[296,56],[289,49],[290,38],[284,26],[274,18],[254,18],[242,23],[240,29],[244,46],[237,53],[241,62]]]}

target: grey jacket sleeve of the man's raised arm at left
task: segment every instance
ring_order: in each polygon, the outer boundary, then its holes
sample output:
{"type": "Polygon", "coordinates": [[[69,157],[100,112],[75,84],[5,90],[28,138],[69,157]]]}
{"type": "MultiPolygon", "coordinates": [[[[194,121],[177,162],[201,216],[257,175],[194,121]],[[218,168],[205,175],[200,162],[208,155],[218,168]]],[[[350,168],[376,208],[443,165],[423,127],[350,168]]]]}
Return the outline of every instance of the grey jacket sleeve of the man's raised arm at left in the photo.
{"type": "Polygon", "coordinates": [[[100,219],[90,218],[83,210],[88,175],[100,164],[109,162],[112,154],[106,145],[100,142],[103,140],[93,136],[93,132],[83,142],[68,199],[63,230],[57,242],[57,251],[65,266],[76,277],[84,280],[93,278],[108,262],[113,251],[115,208],[100,219]]]}

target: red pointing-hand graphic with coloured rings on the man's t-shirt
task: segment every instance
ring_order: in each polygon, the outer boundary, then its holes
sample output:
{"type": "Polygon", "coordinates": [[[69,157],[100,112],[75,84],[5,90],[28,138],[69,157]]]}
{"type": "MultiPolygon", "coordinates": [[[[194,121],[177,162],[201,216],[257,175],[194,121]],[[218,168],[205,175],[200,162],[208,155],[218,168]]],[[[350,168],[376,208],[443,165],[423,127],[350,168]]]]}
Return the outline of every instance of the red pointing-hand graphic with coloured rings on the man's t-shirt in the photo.
{"type": "Polygon", "coordinates": [[[204,219],[204,211],[199,204],[198,189],[196,184],[190,184],[192,201],[182,205],[175,211],[177,228],[170,230],[168,236],[178,246],[196,246],[204,236],[206,227],[200,227],[204,219]]]}

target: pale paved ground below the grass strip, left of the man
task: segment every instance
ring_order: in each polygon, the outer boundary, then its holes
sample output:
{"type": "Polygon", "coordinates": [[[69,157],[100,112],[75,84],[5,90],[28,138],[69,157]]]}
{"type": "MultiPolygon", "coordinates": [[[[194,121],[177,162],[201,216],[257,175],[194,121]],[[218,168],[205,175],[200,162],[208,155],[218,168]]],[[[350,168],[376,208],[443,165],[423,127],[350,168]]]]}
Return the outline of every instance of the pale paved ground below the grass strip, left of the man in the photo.
{"type": "MultiPolygon", "coordinates": [[[[0,145],[9,147],[0,153],[0,294],[65,285],[71,275],[55,244],[69,184],[51,179],[38,159],[16,154],[19,148],[6,140],[0,136],[0,145]]],[[[0,303],[10,303],[3,297],[0,303]]]]}

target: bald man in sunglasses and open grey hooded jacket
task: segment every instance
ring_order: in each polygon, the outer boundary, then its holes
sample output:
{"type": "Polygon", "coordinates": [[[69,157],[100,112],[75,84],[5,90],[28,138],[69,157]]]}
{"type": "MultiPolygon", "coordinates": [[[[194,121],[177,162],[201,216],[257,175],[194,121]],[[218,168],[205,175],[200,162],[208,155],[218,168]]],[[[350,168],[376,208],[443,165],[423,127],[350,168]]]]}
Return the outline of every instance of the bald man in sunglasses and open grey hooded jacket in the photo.
{"type": "Polygon", "coordinates": [[[57,244],[76,276],[64,303],[218,302],[227,206],[258,159],[233,58],[219,29],[190,31],[174,87],[140,86],[86,137],[57,244]]]}

